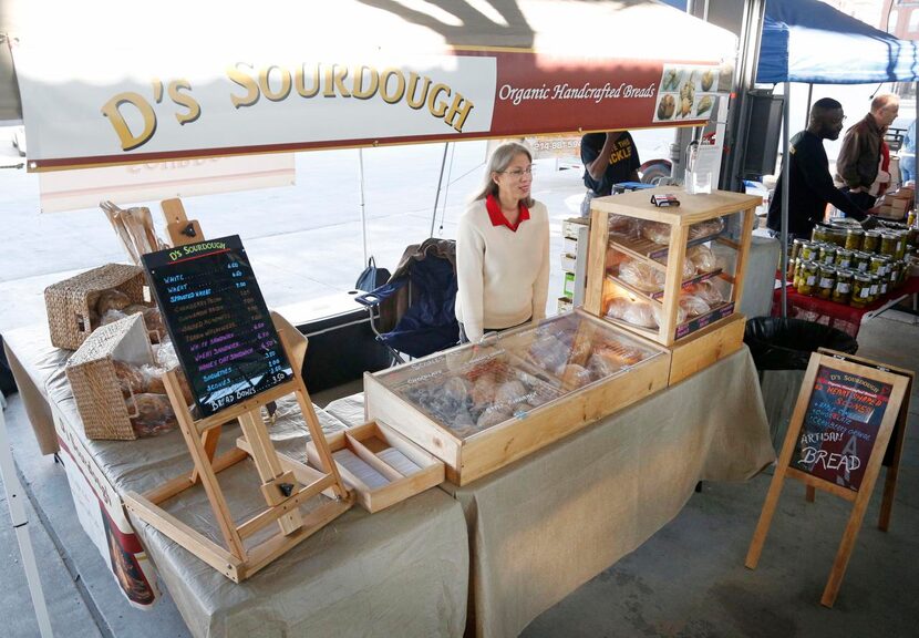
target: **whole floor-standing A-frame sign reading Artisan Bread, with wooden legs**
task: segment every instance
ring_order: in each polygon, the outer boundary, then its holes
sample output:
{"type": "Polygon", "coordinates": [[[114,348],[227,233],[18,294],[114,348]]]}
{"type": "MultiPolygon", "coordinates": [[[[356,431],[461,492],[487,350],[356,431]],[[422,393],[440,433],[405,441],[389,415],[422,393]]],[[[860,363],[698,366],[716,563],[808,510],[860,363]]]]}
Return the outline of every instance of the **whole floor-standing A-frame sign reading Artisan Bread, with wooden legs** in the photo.
{"type": "Polygon", "coordinates": [[[807,485],[808,501],[815,490],[840,496],[854,505],[820,598],[833,607],[881,463],[888,469],[878,527],[887,531],[890,523],[912,380],[911,371],[841,352],[822,349],[810,356],[746,554],[748,568],[760,562],[786,477],[807,485]]]}

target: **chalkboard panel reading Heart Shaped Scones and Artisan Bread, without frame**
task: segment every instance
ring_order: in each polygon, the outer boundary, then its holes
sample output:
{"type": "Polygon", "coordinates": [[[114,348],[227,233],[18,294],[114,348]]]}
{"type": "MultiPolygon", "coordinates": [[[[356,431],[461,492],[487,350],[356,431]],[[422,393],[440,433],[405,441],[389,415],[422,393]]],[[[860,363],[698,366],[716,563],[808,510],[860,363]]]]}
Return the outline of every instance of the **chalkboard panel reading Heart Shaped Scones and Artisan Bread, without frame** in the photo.
{"type": "Polygon", "coordinates": [[[791,466],[857,492],[891,390],[887,383],[820,366],[791,466]]]}

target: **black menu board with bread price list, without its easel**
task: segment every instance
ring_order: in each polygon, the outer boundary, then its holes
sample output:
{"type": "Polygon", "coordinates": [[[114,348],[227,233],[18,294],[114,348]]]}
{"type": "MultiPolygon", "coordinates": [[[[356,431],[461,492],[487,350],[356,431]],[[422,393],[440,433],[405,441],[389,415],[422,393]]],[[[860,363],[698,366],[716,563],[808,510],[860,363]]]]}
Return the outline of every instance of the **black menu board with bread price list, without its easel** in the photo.
{"type": "Polygon", "coordinates": [[[202,416],[293,375],[239,236],[143,256],[202,416]]]}

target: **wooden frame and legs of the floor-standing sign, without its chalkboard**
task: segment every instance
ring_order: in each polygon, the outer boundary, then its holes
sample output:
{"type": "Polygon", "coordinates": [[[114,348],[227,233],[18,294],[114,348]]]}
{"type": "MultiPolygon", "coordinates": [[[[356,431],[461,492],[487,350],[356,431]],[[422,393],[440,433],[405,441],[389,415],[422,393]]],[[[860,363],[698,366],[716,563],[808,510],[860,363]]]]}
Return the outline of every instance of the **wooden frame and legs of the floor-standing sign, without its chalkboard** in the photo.
{"type": "Polygon", "coordinates": [[[861,522],[865,518],[865,512],[868,507],[868,502],[874,492],[875,482],[880,472],[881,463],[884,462],[885,453],[890,443],[892,434],[894,438],[894,454],[892,461],[887,470],[887,476],[884,487],[884,502],[881,503],[880,517],[878,527],[886,532],[890,524],[890,515],[894,504],[894,493],[897,485],[897,474],[899,470],[900,456],[902,454],[903,439],[906,435],[907,418],[909,414],[909,397],[912,389],[913,372],[909,370],[901,370],[892,368],[885,363],[863,359],[833,350],[820,349],[810,356],[810,361],[807,366],[807,371],[802,382],[801,393],[795,403],[795,409],[792,414],[792,420],[788,425],[788,433],[785,436],[785,442],[782,446],[778,462],[773,474],[770,491],[766,495],[766,501],[763,504],[763,510],[760,514],[760,521],[756,524],[756,529],[753,533],[753,539],[750,544],[750,549],[746,554],[744,565],[750,569],[755,569],[760,562],[760,556],[763,550],[763,545],[766,535],[772,524],[772,517],[775,513],[775,507],[778,503],[778,497],[782,493],[782,487],[785,483],[785,477],[796,478],[807,486],[807,500],[813,501],[816,490],[823,490],[835,494],[846,501],[853,503],[853,511],[849,515],[849,521],[846,524],[846,529],[843,534],[843,539],[839,543],[839,548],[836,552],[836,558],[833,563],[833,569],[829,574],[826,587],[824,588],[820,604],[825,607],[833,607],[836,596],[839,593],[839,587],[843,583],[843,576],[846,573],[851,550],[855,547],[855,541],[858,532],[861,528],[861,522]],[[801,434],[804,425],[804,420],[810,397],[814,392],[814,381],[820,367],[828,367],[834,370],[849,372],[857,374],[865,379],[870,379],[879,383],[889,384],[891,387],[890,398],[887,408],[885,409],[884,418],[878,428],[875,444],[871,447],[871,453],[865,466],[865,474],[858,490],[847,488],[845,486],[836,485],[825,478],[814,476],[804,471],[791,467],[789,463],[795,451],[796,441],[801,434]]]}

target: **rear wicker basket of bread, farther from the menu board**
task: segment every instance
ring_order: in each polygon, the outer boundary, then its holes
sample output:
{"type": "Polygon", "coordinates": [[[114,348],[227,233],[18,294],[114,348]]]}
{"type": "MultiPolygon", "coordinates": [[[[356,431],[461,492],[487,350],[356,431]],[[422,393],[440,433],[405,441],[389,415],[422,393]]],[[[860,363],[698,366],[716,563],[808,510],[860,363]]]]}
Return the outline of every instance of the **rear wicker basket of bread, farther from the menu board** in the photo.
{"type": "Polygon", "coordinates": [[[144,301],[144,270],[138,266],[106,264],[44,289],[51,343],[76,350],[97,328],[95,302],[104,290],[120,290],[132,303],[144,301]]]}

